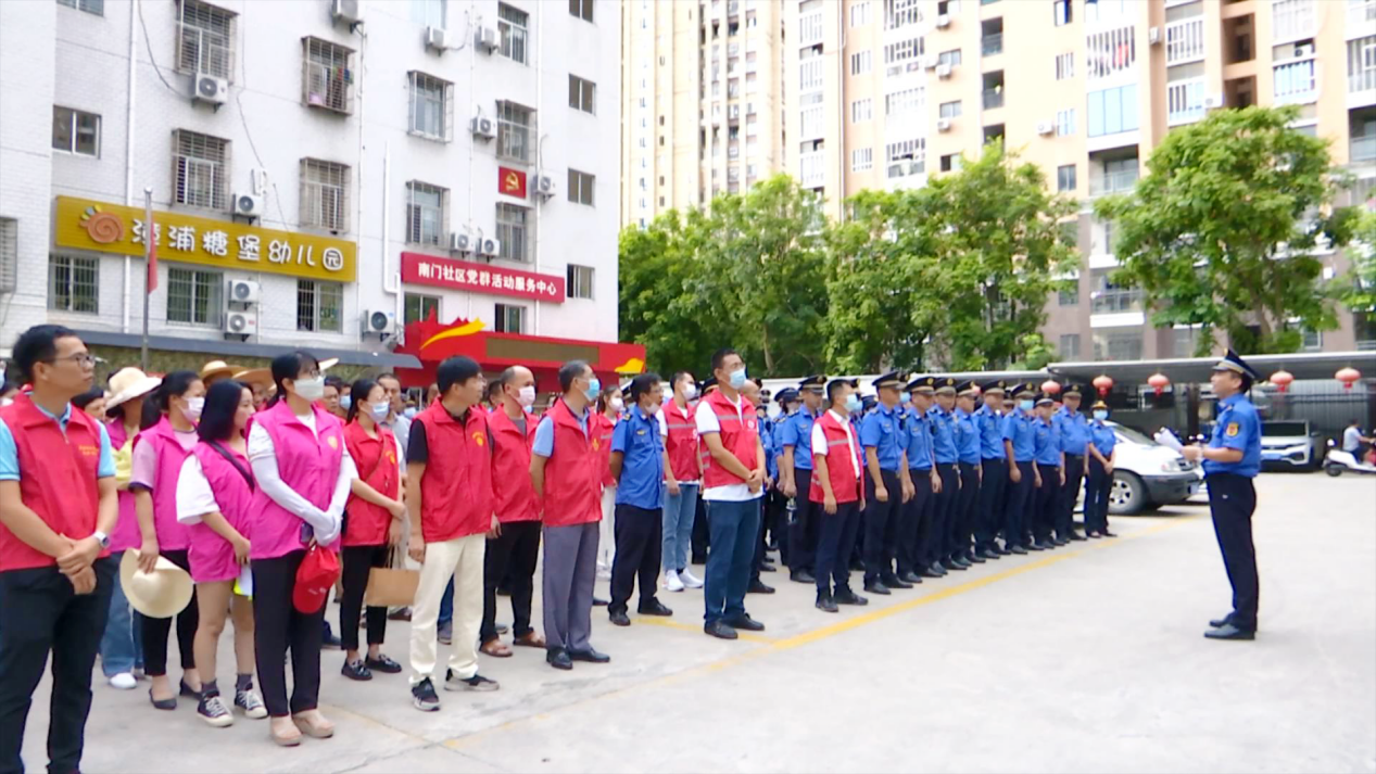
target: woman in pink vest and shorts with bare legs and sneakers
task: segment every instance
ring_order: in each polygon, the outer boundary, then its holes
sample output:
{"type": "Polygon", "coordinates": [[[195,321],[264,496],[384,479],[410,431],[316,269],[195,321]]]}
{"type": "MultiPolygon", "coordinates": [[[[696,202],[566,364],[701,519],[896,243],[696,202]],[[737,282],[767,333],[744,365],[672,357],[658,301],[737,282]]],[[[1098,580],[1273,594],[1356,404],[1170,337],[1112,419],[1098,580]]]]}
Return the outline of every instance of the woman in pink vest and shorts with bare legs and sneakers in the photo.
{"type": "Polygon", "coordinates": [[[253,390],[233,379],[211,385],[197,426],[201,443],[182,463],[176,483],[176,516],[191,533],[187,558],[200,610],[195,665],[202,683],[195,711],[215,727],[234,723],[215,679],[226,615],[234,617],[234,707],[246,718],[267,718],[267,708],[253,690],[252,583],[238,583],[249,562],[253,517],[255,483],[244,440],[252,415],[253,390]]]}

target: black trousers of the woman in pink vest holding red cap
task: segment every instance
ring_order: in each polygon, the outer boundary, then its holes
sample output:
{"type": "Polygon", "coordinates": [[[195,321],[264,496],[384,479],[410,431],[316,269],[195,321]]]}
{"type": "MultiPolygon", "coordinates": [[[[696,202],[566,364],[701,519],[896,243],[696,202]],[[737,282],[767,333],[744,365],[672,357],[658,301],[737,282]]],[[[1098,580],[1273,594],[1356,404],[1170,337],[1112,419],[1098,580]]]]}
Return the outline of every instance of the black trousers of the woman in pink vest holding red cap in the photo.
{"type": "MultiPolygon", "coordinates": [[[[292,605],[296,569],[305,550],[253,560],[253,648],[268,715],[315,709],[321,697],[321,635],[325,608],[304,615],[292,605]],[[292,652],[292,698],[286,698],[286,653],[292,652]]],[[[358,626],[358,624],[355,624],[358,626]]]]}

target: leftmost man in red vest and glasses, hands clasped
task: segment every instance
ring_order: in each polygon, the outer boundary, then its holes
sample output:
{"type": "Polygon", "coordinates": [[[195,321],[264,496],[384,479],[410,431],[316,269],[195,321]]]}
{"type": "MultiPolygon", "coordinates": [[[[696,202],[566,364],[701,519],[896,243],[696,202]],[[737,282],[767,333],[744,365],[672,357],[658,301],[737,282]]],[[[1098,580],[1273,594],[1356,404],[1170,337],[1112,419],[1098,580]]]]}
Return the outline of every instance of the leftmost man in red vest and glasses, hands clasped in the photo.
{"type": "Polygon", "coordinates": [[[33,390],[0,407],[0,771],[23,771],[23,727],[50,653],[48,770],[77,771],[118,583],[114,456],[105,428],[72,408],[95,375],[73,331],[34,326],[12,360],[33,390]]]}

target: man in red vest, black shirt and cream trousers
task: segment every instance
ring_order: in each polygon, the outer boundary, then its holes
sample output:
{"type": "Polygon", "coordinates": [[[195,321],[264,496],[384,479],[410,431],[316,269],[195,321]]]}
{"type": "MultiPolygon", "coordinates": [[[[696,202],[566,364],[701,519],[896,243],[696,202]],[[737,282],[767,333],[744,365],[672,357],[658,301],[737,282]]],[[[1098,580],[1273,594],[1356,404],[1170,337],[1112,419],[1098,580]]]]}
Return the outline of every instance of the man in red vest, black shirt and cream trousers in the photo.
{"type": "Polygon", "coordinates": [[[416,415],[406,450],[406,507],[411,514],[410,557],[421,562],[411,606],[411,700],[439,709],[435,645],[440,599],[454,579],[454,645],[446,690],[497,690],[477,674],[477,630],[483,621],[483,554],[497,525],[493,511],[493,433],[483,392],[487,381],[472,357],[449,357],[435,370],[439,400],[416,415]]]}

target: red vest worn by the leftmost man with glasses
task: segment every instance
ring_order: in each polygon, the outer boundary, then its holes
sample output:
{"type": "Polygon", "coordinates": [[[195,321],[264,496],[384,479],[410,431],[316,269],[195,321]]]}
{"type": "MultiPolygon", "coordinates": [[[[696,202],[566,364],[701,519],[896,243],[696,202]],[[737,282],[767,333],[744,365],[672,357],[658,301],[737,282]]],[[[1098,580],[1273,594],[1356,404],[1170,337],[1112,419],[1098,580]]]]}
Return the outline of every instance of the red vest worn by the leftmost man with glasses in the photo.
{"type": "MultiPolygon", "coordinates": [[[[0,408],[19,459],[19,500],[58,535],[72,540],[95,532],[100,509],[96,474],[100,428],[85,411],[72,408],[66,434],[28,393],[0,408]]],[[[110,551],[100,551],[102,557],[110,551]]],[[[55,566],[58,561],[18,539],[0,524],[0,572],[55,566]]]]}

